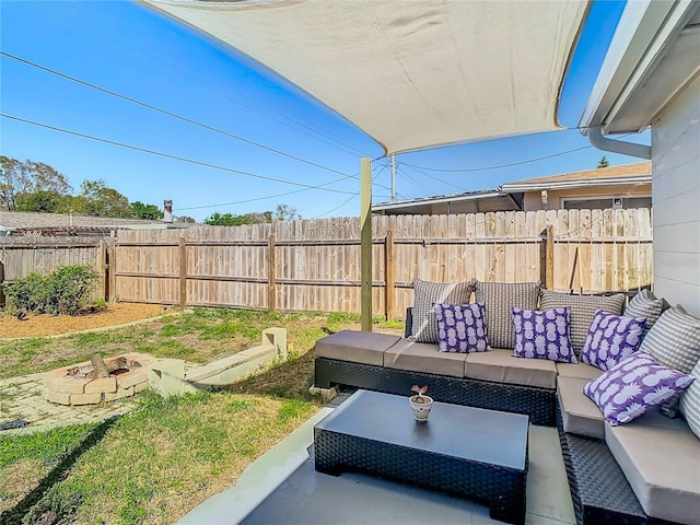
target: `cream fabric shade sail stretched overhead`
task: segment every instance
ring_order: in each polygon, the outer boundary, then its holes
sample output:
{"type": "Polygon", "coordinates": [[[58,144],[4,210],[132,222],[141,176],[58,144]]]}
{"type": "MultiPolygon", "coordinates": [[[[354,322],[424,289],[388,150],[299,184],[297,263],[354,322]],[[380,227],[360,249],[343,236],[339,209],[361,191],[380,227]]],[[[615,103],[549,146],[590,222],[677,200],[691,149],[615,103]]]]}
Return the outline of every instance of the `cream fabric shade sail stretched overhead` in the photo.
{"type": "Polygon", "coordinates": [[[143,0],[276,71],[386,153],[560,129],[582,0],[143,0]]]}

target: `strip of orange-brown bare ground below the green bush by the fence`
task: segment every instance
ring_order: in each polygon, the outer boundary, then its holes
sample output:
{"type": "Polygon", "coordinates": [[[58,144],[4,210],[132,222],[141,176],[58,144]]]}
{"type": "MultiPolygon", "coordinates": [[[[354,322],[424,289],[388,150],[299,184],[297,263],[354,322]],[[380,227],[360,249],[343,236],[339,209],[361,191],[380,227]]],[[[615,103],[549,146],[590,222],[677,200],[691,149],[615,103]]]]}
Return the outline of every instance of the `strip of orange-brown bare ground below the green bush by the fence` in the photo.
{"type": "Polygon", "coordinates": [[[0,315],[0,338],[46,337],[59,334],[118,326],[135,320],[148,319],[166,313],[158,304],[114,303],[106,310],[84,315],[30,315],[20,320],[13,315],[0,315]]]}

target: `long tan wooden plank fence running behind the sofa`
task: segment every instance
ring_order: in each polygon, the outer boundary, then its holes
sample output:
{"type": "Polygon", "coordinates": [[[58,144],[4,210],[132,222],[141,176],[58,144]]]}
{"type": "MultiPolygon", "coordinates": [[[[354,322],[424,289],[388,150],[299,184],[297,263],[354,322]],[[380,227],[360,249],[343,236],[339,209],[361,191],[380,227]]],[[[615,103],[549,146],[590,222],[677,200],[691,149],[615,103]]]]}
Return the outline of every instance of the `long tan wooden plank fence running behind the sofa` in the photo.
{"type": "MultiPolygon", "coordinates": [[[[402,318],[412,305],[415,278],[541,280],[551,290],[584,293],[637,290],[653,278],[650,209],[376,215],[373,237],[373,315],[388,318],[402,318]]],[[[357,218],[120,230],[100,246],[93,265],[106,262],[108,300],[360,312],[357,218]]],[[[20,253],[0,240],[0,261],[20,253]]],[[[5,262],[5,279],[16,278],[15,266],[8,273],[5,262]]]]}

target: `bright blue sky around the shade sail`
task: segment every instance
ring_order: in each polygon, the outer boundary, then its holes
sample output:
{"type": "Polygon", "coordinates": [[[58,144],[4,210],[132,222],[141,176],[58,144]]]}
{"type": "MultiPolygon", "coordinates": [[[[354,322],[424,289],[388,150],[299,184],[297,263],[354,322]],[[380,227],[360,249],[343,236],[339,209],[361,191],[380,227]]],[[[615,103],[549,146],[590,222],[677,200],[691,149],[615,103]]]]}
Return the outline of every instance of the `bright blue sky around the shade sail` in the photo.
{"type": "MultiPolygon", "coordinates": [[[[559,108],[564,127],[579,122],[623,5],[593,4],[559,108]]],[[[101,178],[130,201],[160,206],[173,199],[175,214],[197,220],[214,211],[273,210],[278,203],[305,219],[358,215],[359,183],[347,176],[358,174],[361,156],[381,156],[382,148],[232,49],[128,1],[3,0],[0,10],[0,47],[16,57],[0,57],[2,114],[218,167],[10,118],[0,119],[1,154],[49,164],[75,189],[84,179],[101,178]]],[[[399,198],[417,198],[494,188],[593,168],[603,155],[610,165],[640,161],[595,150],[570,129],[397,155],[396,190],[399,198]],[[497,168],[506,164],[517,165],[497,168]]],[[[389,200],[387,164],[374,163],[374,202],[389,200]]]]}

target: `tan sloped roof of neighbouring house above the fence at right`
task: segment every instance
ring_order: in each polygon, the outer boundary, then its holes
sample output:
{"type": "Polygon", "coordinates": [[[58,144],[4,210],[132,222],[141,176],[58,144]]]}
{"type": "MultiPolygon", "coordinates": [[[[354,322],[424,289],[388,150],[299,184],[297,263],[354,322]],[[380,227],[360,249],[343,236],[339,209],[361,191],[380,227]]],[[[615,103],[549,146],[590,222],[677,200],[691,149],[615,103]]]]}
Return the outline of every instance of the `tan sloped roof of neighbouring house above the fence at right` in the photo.
{"type": "Polygon", "coordinates": [[[651,184],[652,163],[639,162],[622,166],[598,167],[585,172],[563,173],[549,177],[514,180],[501,186],[508,194],[518,191],[537,191],[542,189],[564,189],[592,186],[610,186],[619,184],[651,184]]]}

